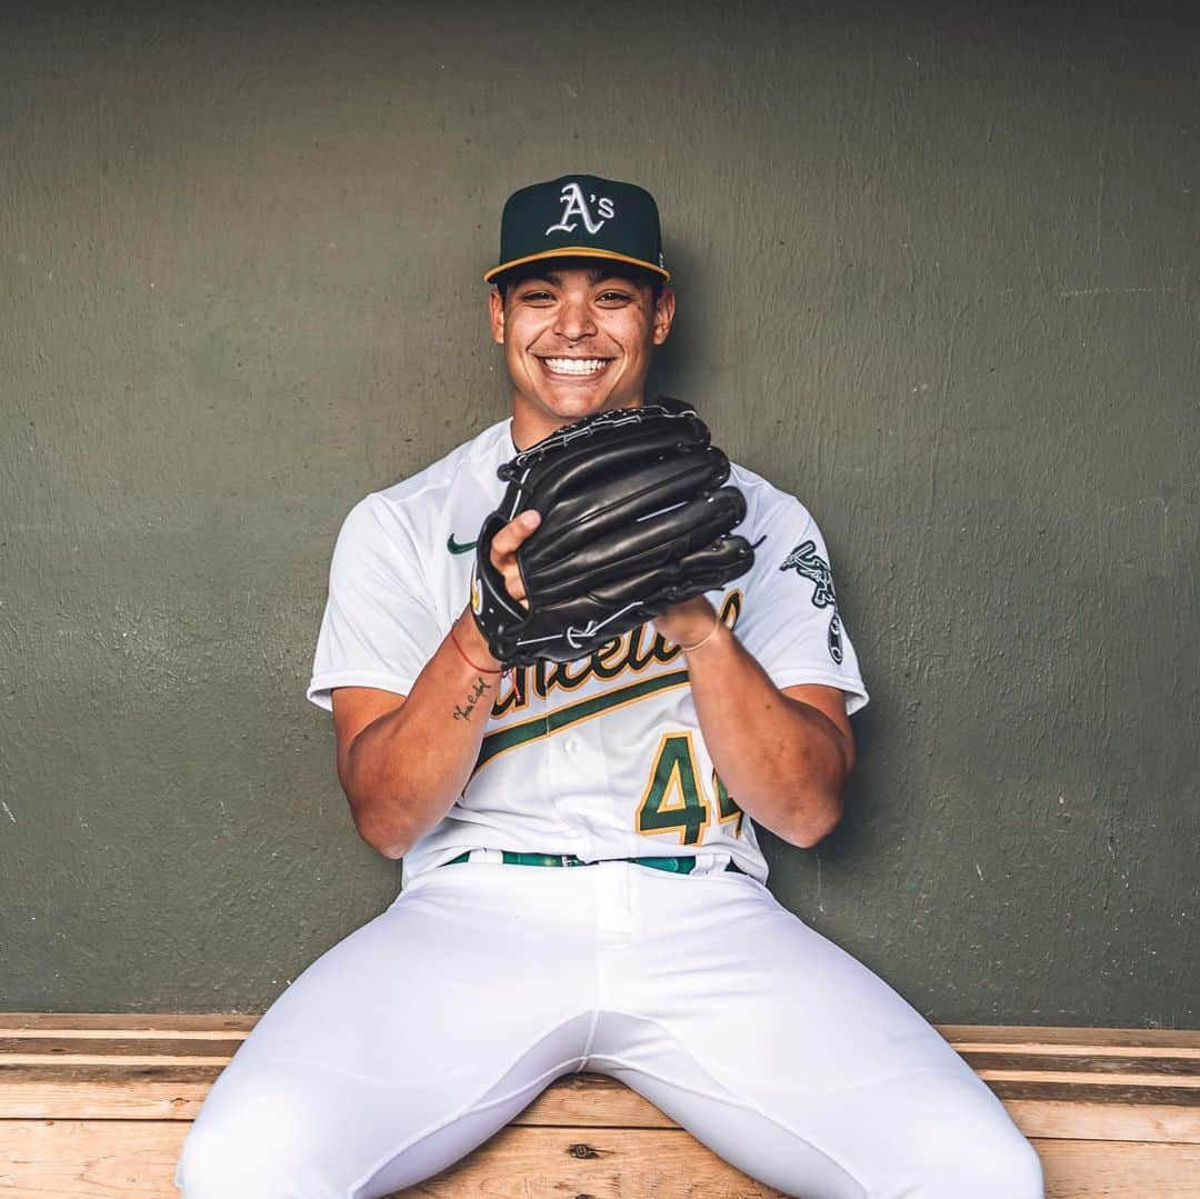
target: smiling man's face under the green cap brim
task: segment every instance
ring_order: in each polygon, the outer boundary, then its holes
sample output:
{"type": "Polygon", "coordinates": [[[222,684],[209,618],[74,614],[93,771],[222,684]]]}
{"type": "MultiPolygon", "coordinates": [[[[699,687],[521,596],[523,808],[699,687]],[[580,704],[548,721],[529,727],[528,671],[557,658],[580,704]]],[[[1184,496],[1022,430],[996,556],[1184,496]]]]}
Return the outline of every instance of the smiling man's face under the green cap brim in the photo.
{"type": "Polygon", "coordinates": [[[611,263],[566,265],[491,293],[492,337],[504,346],[514,416],[538,436],[608,408],[640,404],[652,347],[666,341],[674,295],[611,263]]]}

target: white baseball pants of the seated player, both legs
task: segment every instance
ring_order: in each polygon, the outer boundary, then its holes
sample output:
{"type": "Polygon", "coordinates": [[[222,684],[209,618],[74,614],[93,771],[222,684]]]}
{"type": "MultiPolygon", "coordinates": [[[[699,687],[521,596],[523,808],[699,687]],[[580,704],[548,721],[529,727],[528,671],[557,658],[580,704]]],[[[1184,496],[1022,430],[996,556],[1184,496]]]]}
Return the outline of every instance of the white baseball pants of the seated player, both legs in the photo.
{"type": "Polygon", "coordinates": [[[188,1133],[184,1199],[386,1195],[575,1071],[788,1195],[1040,1199],[938,1032],[726,861],[419,876],[264,1013],[188,1133]]]}

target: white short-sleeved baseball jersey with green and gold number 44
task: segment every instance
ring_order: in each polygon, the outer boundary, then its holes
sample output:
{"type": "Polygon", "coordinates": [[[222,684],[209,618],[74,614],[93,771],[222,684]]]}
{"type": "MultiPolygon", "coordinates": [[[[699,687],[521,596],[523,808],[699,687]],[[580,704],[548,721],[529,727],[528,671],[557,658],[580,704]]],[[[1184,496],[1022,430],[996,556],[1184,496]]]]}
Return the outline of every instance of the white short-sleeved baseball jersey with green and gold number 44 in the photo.
{"type": "MultiPolygon", "coordinates": [[[[517,452],[511,418],[416,475],[368,494],[334,548],[308,699],[337,687],[407,695],[468,601],[474,540],[498,506],[497,468],[517,452]]],[[[755,564],[708,599],[779,687],[821,683],[868,702],[836,606],[829,554],[794,497],[732,464],[746,498],[737,532],[755,564]]],[[[464,850],[601,858],[730,855],[767,880],[754,823],[701,733],[680,651],[653,624],[569,664],[500,683],[479,761],[454,807],[403,859],[401,886],[464,850]]]]}

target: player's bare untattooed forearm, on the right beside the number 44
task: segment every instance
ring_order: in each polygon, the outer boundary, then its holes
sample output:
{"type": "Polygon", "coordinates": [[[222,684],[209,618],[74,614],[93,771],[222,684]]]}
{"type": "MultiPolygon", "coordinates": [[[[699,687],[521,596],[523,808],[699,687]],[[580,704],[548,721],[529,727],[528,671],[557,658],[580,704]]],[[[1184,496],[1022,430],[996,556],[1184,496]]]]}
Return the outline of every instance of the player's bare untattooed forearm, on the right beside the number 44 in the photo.
{"type": "MultiPolygon", "coordinates": [[[[686,646],[704,639],[712,618],[673,613],[656,624],[686,646]]],[[[685,657],[704,744],[728,793],[790,844],[815,845],[841,817],[847,763],[836,726],[776,688],[724,624],[685,657]]]]}

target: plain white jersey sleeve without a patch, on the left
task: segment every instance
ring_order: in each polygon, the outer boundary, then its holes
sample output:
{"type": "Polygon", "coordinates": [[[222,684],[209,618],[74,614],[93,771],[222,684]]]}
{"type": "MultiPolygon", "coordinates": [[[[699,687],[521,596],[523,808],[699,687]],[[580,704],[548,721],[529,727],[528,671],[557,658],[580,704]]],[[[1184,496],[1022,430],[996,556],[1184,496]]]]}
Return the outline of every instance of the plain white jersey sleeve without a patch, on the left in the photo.
{"type": "Polygon", "coordinates": [[[367,496],[350,510],[334,546],[308,683],[318,707],[332,711],[335,687],[412,690],[444,636],[421,580],[412,577],[419,562],[384,500],[367,496]]]}

